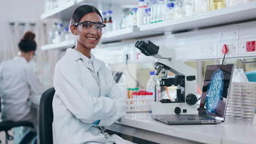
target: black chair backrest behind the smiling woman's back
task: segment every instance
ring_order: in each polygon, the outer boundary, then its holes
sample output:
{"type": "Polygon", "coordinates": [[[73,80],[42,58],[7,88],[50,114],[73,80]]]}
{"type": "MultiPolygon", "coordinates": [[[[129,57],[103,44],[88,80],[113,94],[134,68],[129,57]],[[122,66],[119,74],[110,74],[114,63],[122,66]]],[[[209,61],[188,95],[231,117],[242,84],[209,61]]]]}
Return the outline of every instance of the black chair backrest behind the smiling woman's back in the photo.
{"type": "Polygon", "coordinates": [[[53,97],[54,87],[47,89],[40,98],[39,105],[39,140],[40,144],[53,143],[53,97]]]}

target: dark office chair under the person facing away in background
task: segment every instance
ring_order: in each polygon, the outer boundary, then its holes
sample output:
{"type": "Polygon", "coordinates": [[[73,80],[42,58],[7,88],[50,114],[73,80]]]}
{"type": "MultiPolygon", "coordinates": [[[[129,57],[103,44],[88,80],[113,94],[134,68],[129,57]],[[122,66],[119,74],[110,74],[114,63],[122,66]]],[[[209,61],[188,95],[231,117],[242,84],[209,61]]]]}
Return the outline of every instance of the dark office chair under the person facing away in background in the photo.
{"type": "MultiPolygon", "coordinates": [[[[1,113],[1,97],[0,97],[0,113],[1,113]]],[[[12,128],[15,127],[31,127],[33,128],[34,125],[31,122],[27,122],[27,121],[1,121],[0,122],[0,131],[5,131],[5,144],[8,144],[8,140],[13,140],[13,136],[8,134],[8,131],[11,130],[12,128]]],[[[36,136],[36,133],[28,133],[28,135],[26,135],[26,138],[28,139],[28,137],[33,137],[36,136]]],[[[26,139],[25,138],[25,139],[26,139]]],[[[0,144],[2,143],[2,141],[0,140],[0,144]]]]}

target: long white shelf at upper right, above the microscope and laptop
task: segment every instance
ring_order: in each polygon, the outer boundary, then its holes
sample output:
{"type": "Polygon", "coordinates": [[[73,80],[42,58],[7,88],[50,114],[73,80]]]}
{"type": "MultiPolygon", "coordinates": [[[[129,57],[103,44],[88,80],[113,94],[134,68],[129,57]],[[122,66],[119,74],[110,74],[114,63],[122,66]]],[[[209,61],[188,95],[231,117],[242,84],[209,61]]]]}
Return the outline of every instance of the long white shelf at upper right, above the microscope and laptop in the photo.
{"type": "Polygon", "coordinates": [[[177,18],[164,22],[156,22],[144,25],[140,31],[183,31],[202,27],[224,25],[226,23],[256,19],[256,1],[233,7],[208,11],[194,17],[177,18]]]}

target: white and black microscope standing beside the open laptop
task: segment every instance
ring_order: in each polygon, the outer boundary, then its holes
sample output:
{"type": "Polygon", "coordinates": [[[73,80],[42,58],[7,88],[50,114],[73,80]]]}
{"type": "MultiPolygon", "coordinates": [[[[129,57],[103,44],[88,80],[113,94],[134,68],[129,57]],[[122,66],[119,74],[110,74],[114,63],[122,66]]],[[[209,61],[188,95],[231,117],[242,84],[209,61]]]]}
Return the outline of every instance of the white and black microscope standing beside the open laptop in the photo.
{"type": "Polygon", "coordinates": [[[138,40],[135,47],[144,55],[156,58],[155,75],[162,73],[160,79],[156,79],[159,80],[160,87],[177,86],[177,98],[155,100],[152,104],[152,114],[197,114],[196,70],[174,59],[176,57],[174,49],[156,46],[149,40],[138,40]],[[175,76],[168,76],[167,71],[171,71],[175,76]]]}

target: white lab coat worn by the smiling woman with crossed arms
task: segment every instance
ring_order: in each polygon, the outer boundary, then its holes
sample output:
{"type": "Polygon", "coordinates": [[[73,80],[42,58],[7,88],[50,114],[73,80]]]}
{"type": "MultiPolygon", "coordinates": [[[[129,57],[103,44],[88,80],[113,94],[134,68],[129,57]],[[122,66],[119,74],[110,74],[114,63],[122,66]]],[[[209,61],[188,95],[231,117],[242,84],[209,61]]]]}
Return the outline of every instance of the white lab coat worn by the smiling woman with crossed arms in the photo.
{"type": "Polygon", "coordinates": [[[54,87],[54,143],[108,141],[109,135],[102,134],[100,127],[123,117],[126,105],[106,65],[92,54],[89,59],[77,50],[67,49],[56,65],[54,87]],[[98,125],[92,124],[97,120],[98,125]]]}

